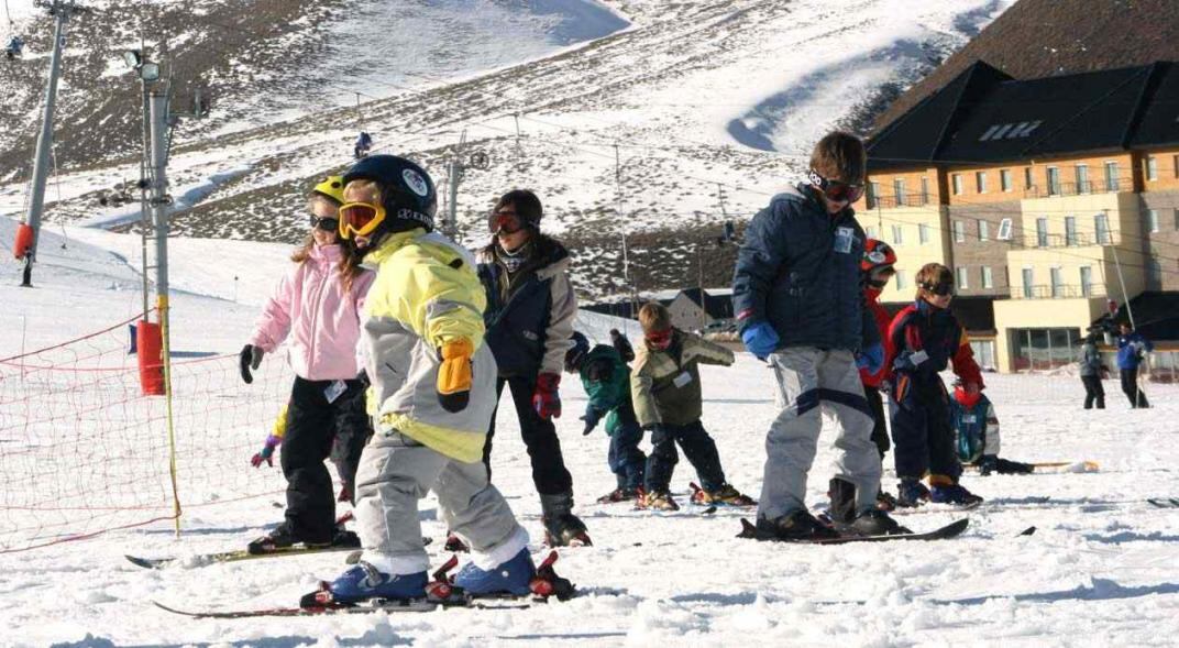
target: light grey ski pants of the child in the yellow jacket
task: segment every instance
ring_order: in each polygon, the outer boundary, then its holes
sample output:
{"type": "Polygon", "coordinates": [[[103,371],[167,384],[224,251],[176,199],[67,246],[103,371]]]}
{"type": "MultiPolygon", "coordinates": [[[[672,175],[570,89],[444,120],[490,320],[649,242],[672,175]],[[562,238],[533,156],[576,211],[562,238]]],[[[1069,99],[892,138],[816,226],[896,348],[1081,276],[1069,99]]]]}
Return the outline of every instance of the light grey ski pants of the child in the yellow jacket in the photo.
{"type": "Polygon", "coordinates": [[[390,430],[373,436],[356,471],[361,559],[384,574],[427,571],[417,500],[430,490],[447,528],[470,544],[476,565],[490,569],[528,545],[528,532],[488,483],[482,463],[452,459],[390,430]]]}

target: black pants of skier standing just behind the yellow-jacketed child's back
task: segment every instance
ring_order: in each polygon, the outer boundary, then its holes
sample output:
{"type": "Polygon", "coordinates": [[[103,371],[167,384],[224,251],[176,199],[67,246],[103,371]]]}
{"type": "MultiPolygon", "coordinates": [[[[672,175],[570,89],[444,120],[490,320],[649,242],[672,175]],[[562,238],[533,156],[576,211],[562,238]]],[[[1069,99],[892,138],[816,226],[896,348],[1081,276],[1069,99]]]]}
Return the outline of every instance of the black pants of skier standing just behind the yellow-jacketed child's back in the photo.
{"type": "MultiPolygon", "coordinates": [[[[561,454],[561,441],[556,438],[556,426],[544,419],[532,406],[532,394],[536,391],[536,377],[500,378],[495,382],[495,400],[499,402],[507,385],[515,404],[516,417],[520,419],[520,437],[528,449],[532,460],[532,480],[540,495],[561,495],[573,492],[573,476],[565,467],[561,454]]],[[[492,427],[483,441],[483,465],[487,466],[487,480],[492,480],[492,439],[495,437],[495,418],[499,405],[492,414],[492,427]]]]}

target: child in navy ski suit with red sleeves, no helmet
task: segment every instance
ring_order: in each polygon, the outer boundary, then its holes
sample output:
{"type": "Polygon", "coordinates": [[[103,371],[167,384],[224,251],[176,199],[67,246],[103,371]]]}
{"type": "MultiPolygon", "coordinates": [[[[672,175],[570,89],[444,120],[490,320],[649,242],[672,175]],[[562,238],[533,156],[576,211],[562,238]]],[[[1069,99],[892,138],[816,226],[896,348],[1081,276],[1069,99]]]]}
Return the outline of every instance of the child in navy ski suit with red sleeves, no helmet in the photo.
{"type": "Polygon", "coordinates": [[[949,312],[954,274],[941,263],[917,271],[916,302],[893,319],[888,333],[889,410],[893,454],[901,479],[897,504],[933,500],[976,505],[982,498],[959,483],[962,464],[954,450],[949,394],[940,372],[953,364],[962,390],[974,397],[984,387],[966,329],[949,312]],[[929,474],[931,489],[921,479],[929,474]]]}

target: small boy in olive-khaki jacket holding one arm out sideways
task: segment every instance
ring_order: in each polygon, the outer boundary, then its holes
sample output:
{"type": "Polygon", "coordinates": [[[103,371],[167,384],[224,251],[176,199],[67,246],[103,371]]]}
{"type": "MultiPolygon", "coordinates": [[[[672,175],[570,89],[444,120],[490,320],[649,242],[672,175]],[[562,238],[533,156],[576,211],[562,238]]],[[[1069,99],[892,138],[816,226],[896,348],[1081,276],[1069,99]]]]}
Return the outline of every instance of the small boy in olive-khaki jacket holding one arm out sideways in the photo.
{"type": "Polygon", "coordinates": [[[704,397],[700,392],[700,365],[733,364],[733,352],[699,335],[671,326],[671,313],[658,302],[639,309],[643,343],[634,354],[631,372],[631,399],[643,430],[651,431],[651,456],[646,466],[646,495],[639,506],[674,511],[679,504],[668,486],[679,462],[676,444],[696,469],[700,489],[692,493],[697,504],[752,506],[725,480],[717,443],[700,423],[704,397]]]}

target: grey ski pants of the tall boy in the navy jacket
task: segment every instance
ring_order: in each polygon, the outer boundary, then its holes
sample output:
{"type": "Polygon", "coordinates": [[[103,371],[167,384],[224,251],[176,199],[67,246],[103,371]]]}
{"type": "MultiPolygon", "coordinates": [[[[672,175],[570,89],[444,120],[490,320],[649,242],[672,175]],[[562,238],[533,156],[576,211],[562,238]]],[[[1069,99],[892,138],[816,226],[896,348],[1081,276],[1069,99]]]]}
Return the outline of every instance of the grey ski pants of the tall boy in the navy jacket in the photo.
{"type": "Polygon", "coordinates": [[[819,410],[837,425],[835,477],[856,486],[856,511],[876,505],[881,457],[872,415],[850,351],[791,347],[770,354],[780,411],[765,438],[765,477],[758,517],[775,519],[806,508],[806,473],[815,460],[819,410]]]}

